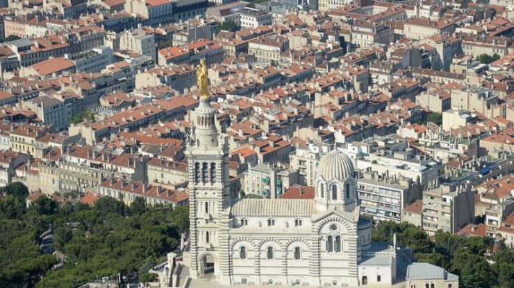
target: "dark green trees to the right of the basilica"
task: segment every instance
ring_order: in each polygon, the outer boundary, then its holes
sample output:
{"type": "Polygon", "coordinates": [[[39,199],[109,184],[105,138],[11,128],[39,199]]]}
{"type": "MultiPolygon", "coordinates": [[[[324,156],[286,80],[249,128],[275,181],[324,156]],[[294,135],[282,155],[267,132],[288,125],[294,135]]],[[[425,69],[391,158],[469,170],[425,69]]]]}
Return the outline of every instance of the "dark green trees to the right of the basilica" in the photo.
{"type": "Polygon", "coordinates": [[[488,256],[494,262],[490,265],[484,255],[493,249],[494,243],[489,237],[463,238],[439,231],[431,242],[417,226],[406,222],[381,222],[374,227],[373,240],[391,241],[394,233],[401,246],[413,249],[418,262],[429,262],[460,276],[459,287],[513,287],[514,249],[508,249],[503,242],[496,253],[488,256]]]}

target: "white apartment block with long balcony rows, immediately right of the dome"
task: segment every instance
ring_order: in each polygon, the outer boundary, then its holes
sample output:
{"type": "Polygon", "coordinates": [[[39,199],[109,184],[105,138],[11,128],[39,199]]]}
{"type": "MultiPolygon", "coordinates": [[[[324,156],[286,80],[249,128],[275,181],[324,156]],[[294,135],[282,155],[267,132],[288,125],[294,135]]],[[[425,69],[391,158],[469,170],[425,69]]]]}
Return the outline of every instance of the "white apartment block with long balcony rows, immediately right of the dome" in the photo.
{"type": "Polygon", "coordinates": [[[402,222],[404,209],[422,198],[420,183],[386,173],[365,172],[358,179],[361,213],[375,221],[402,222]]]}

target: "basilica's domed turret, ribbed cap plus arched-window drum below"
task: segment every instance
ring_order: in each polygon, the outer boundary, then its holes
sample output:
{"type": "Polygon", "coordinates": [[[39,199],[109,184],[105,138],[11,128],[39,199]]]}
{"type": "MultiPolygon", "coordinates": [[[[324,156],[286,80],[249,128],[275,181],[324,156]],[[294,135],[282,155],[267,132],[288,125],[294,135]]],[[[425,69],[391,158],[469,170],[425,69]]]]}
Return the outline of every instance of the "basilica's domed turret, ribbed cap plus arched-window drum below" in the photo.
{"type": "Polygon", "coordinates": [[[337,148],[317,166],[315,201],[319,210],[342,208],[353,211],[357,204],[354,164],[337,148]]]}

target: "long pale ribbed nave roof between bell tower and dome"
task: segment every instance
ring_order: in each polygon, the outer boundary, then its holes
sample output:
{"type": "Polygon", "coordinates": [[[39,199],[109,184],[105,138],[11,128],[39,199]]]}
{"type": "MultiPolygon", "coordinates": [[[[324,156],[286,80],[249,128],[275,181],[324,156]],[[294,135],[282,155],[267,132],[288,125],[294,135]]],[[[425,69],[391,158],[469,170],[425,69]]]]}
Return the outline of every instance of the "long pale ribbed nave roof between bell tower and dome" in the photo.
{"type": "Polygon", "coordinates": [[[241,199],[232,214],[247,217],[310,217],[317,213],[313,199],[241,199]]]}

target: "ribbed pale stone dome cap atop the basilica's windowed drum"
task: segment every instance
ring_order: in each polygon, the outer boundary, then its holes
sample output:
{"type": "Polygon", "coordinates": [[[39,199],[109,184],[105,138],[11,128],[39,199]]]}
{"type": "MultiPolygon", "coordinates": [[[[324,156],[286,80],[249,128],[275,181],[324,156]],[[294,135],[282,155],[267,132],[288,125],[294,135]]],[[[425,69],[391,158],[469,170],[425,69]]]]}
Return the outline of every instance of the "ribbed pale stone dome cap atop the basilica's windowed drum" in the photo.
{"type": "Polygon", "coordinates": [[[354,177],[354,164],[345,153],[337,148],[327,153],[317,166],[317,175],[323,177],[325,181],[338,179],[345,181],[349,176],[354,177]]]}

